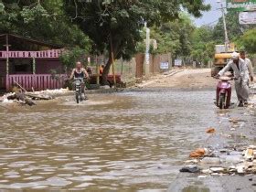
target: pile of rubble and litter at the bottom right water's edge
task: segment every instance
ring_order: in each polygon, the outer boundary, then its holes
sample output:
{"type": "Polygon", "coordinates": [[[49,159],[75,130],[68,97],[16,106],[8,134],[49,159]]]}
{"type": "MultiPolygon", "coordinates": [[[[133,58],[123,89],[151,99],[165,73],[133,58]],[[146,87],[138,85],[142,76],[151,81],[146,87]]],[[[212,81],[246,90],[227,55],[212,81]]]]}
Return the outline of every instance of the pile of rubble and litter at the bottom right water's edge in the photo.
{"type": "Polygon", "coordinates": [[[256,146],[242,149],[201,148],[190,154],[191,160],[180,172],[200,173],[204,175],[248,175],[256,174],[256,146]]]}

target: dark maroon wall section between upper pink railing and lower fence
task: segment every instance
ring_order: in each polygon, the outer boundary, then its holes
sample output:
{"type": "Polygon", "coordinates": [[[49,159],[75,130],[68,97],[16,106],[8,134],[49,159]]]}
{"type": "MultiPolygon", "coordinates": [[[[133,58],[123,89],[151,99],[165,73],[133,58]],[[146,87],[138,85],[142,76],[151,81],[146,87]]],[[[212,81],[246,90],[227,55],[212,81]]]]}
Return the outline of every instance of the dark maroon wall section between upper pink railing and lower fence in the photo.
{"type": "Polygon", "coordinates": [[[36,74],[48,74],[51,69],[57,70],[57,73],[64,72],[59,59],[36,59],[36,74]]]}

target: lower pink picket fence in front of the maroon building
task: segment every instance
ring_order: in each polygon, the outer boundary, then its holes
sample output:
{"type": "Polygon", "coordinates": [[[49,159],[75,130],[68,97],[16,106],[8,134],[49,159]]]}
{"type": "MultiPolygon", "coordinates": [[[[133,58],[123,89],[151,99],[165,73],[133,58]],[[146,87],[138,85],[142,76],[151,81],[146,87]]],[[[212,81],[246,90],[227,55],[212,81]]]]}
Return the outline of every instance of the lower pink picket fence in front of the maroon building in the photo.
{"type": "Polygon", "coordinates": [[[32,88],[35,91],[60,89],[64,86],[65,77],[64,74],[56,77],[50,74],[6,75],[6,90],[10,91],[16,82],[27,91],[31,91],[32,88]]]}

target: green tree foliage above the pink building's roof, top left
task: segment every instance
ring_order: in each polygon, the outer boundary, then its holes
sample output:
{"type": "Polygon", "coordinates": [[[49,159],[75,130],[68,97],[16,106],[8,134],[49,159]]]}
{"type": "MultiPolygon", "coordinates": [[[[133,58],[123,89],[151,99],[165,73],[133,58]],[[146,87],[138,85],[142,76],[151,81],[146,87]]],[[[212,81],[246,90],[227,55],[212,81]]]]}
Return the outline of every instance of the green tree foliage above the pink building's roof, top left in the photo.
{"type": "Polygon", "coordinates": [[[89,37],[71,23],[62,0],[0,0],[0,14],[0,33],[91,50],[89,37]]]}

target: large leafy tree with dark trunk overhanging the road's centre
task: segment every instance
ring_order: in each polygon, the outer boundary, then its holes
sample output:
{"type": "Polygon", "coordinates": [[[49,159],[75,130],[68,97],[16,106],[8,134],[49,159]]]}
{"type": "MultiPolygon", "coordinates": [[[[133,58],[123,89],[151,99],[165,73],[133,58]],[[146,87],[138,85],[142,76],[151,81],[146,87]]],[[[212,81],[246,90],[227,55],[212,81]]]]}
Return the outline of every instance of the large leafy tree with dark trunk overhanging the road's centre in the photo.
{"type": "Polygon", "coordinates": [[[142,40],[141,29],[146,21],[149,27],[159,26],[178,18],[179,12],[186,9],[189,14],[201,16],[209,5],[203,0],[64,0],[69,16],[93,41],[93,50],[109,52],[109,60],[103,70],[105,83],[113,59],[130,58],[136,50],[137,42],[142,40]]]}

